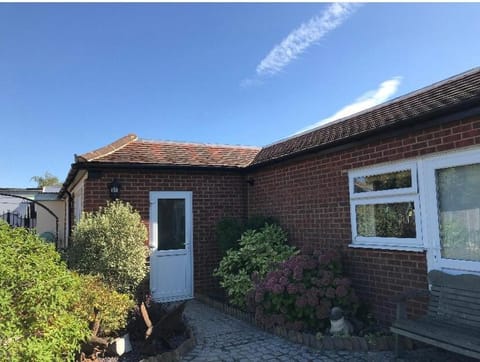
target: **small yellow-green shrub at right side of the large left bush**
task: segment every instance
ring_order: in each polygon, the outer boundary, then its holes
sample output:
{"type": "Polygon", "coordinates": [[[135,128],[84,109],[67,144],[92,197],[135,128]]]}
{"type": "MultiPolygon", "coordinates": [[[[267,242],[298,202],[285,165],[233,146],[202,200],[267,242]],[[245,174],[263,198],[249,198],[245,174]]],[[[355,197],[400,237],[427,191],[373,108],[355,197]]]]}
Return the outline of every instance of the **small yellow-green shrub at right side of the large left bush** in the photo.
{"type": "Polygon", "coordinates": [[[82,299],[76,306],[82,320],[89,322],[90,327],[95,319],[100,322],[99,336],[113,336],[115,332],[125,328],[128,312],[135,305],[128,294],[121,294],[107,286],[98,276],[80,275],[82,279],[82,299]]]}

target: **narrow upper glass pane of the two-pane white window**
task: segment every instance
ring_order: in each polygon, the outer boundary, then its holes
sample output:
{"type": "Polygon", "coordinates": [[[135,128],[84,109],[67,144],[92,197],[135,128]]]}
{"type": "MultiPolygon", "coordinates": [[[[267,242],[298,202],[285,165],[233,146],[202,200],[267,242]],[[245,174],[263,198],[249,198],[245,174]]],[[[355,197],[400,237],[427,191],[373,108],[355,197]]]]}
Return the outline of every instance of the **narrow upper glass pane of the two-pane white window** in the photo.
{"type": "Polygon", "coordinates": [[[411,170],[382,173],[380,175],[360,176],[353,179],[355,193],[394,190],[412,187],[411,170]]]}

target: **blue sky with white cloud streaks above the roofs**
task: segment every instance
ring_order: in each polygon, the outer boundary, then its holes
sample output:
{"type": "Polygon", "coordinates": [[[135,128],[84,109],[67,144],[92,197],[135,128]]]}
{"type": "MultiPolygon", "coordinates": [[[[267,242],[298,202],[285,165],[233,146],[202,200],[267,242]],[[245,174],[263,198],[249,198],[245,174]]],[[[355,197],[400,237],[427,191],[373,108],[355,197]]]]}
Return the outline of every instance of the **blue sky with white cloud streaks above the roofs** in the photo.
{"type": "Polygon", "coordinates": [[[270,144],[478,66],[479,19],[480,3],[0,3],[0,187],[63,180],[128,133],[270,144]]]}

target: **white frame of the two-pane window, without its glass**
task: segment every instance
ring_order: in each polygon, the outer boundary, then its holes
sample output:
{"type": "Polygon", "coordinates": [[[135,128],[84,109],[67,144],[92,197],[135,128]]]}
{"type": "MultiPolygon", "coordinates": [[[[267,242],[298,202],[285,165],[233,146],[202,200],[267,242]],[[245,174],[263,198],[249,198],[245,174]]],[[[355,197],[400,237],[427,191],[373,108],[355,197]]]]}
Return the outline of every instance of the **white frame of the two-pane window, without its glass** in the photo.
{"type": "Polygon", "coordinates": [[[350,247],[405,251],[424,250],[416,161],[396,162],[387,165],[355,169],[351,170],[348,173],[348,178],[350,194],[350,219],[352,230],[352,243],[349,245],[350,247]],[[355,192],[354,181],[357,177],[375,176],[406,170],[410,171],[410,177],[412,181],[410,187],[391,190],[355,192]],[[413,202],[415,208],[415,238],[367,237],[358,235],[356,215],[357,205],[386,204],[396,202],[413,202]]]}

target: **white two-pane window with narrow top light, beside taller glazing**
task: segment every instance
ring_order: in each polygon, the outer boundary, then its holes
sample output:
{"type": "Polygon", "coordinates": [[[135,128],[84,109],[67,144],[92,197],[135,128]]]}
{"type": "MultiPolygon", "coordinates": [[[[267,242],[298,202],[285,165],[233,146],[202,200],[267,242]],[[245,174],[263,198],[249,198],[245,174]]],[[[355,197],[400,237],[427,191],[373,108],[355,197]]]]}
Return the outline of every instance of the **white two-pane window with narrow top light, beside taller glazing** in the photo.
{"type": "Polygon", "coordinates": [[[352,247],[422,250],[415,162],[349,173],[352,247]]]}

